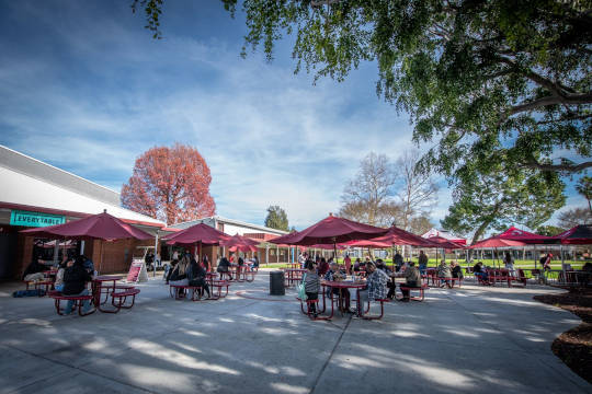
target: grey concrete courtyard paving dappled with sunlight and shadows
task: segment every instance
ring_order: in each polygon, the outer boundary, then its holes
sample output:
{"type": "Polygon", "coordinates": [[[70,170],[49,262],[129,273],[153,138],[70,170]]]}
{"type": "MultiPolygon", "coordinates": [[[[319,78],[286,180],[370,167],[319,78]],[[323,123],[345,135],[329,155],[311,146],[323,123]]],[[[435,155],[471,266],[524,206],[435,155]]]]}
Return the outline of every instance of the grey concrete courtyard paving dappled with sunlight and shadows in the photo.
{"type": "Polygon", "coordinates": [[[545,287],[431,289],[373,322],[309,321],[265,270],[219,301],[138,287],[134,309],[79,317],[0,285],[0,392],[592,393],[550,351],[580,321],[532,300],[545,287]]]}

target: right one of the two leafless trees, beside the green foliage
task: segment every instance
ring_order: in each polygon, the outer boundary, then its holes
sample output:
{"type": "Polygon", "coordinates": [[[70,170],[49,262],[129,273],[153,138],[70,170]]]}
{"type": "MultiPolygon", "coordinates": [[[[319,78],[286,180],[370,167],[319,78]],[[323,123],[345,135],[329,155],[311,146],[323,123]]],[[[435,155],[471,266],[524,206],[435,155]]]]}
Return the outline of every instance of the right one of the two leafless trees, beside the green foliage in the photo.
{"type": "Polygon", "coordinates": [[[420,158],[418,151],[406,151],[396,163],[396,173],[401,182],[399,199],[403,210],[400,225],[405,230],[410,230],[413,218],[428,216],[437,200],[437,185],[431,175],[417,171],[420,158]]]}

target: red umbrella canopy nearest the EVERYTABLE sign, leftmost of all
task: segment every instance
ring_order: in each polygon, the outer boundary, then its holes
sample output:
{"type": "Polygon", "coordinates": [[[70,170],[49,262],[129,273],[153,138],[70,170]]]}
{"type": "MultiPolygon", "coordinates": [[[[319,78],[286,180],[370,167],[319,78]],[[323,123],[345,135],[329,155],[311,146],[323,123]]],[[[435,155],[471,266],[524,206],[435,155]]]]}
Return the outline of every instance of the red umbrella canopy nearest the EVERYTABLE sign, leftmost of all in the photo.
{"type": "Polygon", "coordinates": [[[26,235],[37,235],[46,237],[57,236],[70,240],[121,240],[128,237],[134,237],[137,240],[149,240],[153,237],[147,232],[144,232],[133,225],[124,223],[122,220],[109,215],[106,211],[64,224],[22,230],[21,232],[26,235]]]}

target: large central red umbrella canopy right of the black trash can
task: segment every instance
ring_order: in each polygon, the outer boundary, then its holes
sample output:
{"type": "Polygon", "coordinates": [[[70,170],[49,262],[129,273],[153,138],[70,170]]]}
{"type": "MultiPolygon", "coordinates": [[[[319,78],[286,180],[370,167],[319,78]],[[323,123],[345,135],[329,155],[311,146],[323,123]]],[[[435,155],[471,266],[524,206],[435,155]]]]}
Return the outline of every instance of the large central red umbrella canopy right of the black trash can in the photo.
{"type": "Polygon", "coordinates": [[[334,244],[353,240],[367,240],[383,235],[387,231],[388,229],[329,216],[308,229],[278,236],[270,242],[288,245],[334,244]]]}

